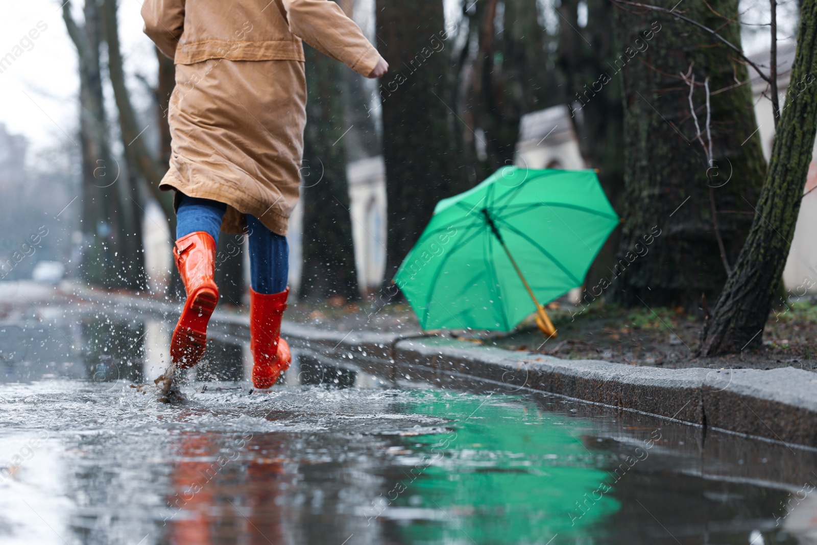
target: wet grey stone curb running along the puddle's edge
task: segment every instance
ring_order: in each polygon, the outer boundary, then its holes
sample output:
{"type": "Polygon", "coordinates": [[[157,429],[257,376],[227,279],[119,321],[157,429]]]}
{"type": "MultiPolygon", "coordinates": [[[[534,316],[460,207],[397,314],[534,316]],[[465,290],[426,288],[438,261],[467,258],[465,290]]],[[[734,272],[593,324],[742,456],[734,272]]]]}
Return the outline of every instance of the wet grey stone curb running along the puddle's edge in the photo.
{"type": "MultiPolygon", "coordinates": [[[[72,286],[74,297],[167,319],[181,305],[72,286]]],[[[214,332],[248,337],[248,315],[213,314],[214,332]]],[[[722,431],[817,448],[817,373],[793,369],[659,369],[560,360],[443,337],[324,331],[285,322],[293,348],[394,382],[538,391],[722,431]]]]}

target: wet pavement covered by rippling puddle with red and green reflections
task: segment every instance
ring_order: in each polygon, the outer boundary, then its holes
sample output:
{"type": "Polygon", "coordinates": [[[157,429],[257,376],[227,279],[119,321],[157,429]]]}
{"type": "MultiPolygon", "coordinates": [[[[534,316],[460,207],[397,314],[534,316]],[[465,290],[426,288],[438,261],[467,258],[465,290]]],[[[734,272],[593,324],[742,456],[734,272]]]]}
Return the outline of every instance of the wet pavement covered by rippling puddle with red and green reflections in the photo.
{"type": "Polygon", "coordinates": [[[172,324],[23,308],[0,323],[0,543],[817,543],[813,450],[306,353],[257,392],[226,336],[163,404],[134,386],[172,324]]]}

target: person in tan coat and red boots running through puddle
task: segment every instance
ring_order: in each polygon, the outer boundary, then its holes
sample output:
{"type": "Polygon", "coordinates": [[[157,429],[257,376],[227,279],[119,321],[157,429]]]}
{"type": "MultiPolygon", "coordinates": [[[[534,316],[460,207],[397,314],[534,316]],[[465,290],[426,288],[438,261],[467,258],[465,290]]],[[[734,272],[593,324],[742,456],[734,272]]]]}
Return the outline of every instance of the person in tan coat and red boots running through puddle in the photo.
{"type": "Polygon", "coordinates": [[[368,78],[388,65],[328,0],[145,0],[142,18],[176,64],[172,156],[159,187],[176,191],[173,254],[187,300],[171,357],[182,369],[201,360],[218,302],[219,231],[246,232],[252,382],[269,388],[292,360],[279,337],[306,123],[301,38],[368,78]]]}

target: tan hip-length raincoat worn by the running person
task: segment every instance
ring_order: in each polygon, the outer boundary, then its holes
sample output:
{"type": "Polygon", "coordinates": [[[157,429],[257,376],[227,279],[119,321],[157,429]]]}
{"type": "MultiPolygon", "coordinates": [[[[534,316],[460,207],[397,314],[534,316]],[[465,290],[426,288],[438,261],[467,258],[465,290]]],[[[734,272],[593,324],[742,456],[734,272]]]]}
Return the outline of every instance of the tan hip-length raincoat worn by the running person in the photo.
{"type": "Polygon", "coordinates": [[[176,63],[159,187],[227,203],[221,230],[242,232],[249,213],[286,235],[306,123],[301,38],[364,76],[377,50],[329,0],[145,0],[142,18],[176,63]]]}

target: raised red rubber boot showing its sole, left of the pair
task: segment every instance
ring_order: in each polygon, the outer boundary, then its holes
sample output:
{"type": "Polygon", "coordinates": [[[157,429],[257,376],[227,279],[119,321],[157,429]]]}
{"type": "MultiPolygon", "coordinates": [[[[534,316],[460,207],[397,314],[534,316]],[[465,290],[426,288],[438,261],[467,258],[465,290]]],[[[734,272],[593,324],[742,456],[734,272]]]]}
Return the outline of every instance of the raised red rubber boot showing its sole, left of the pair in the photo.
{"type": "Polygon", "coordinates": [[[198,364],[207,346],[207,324],[218,302],[216,241],[204,231],[176,240],[176,266],[185,283],[187,301],[170,342],[170,357],[180,369],[198,364]]]}

